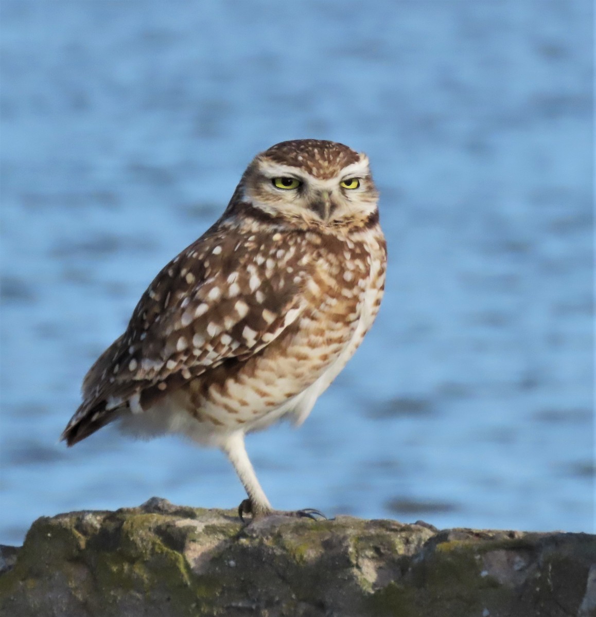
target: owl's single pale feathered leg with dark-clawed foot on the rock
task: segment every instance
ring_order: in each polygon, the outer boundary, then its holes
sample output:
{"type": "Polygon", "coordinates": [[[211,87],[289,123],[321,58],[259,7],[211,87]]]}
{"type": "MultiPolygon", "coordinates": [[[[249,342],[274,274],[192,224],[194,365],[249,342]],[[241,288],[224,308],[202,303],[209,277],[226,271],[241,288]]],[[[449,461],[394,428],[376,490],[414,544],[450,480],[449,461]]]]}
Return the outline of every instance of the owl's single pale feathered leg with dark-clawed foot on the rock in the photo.
{"type": "Polygon", "coordinates": [[[248,494],[248,499],[245,499],[238,507],[238,515],[240,515],[242,520],[244,520],[245,514],[251,514],[253,520],[270,514],[306,517],[313,518],[314,520],[317,520],[317,518],[327,518],[322,512],[314,510],[314,508],[304,508],[304,510],[296,511],[280,511],[274,510],[271,507],[271,503],[269,503],[265,492],[261,488],[256,473],[254,473],[253,465],[251,465],[248,454],[246,453],[243,433],[232,434],[222,446],[222,450],[225,452],[230,463],[234,466],[238,478],[240,478],[240,482],[242,482],[242,485],[246,489],[246,494],[248,494]]]}

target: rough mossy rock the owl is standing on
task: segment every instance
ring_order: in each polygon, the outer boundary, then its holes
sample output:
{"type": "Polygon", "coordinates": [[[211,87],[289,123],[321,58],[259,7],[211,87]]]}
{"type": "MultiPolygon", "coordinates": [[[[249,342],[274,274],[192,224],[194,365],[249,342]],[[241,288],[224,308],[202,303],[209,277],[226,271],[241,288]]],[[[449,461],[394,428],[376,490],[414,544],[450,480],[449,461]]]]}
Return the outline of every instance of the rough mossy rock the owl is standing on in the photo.
{"type": "Polygon", "coordinates": [[[35,521],[0,552],[0,615],[590,617],[595,562],[589,534],[349,516],[243,526],[154,497],[35,521]]]}

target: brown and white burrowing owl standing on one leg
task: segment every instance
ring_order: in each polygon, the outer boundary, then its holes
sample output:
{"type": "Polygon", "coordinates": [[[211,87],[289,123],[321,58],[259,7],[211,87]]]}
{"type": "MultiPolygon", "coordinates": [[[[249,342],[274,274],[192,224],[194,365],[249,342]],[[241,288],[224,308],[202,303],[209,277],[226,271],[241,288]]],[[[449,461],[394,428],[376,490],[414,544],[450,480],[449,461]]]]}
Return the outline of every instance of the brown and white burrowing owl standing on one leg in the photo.
{"type": "Polygon", "coordinates": [[[272,146],[91,366],[62,439],[112,420],[182,433],[225,452],[248,493],[240,516],[268,515],[245,434],[304,421],[371,327],[385,263],[366,155],[315,139],[272,146]]]}

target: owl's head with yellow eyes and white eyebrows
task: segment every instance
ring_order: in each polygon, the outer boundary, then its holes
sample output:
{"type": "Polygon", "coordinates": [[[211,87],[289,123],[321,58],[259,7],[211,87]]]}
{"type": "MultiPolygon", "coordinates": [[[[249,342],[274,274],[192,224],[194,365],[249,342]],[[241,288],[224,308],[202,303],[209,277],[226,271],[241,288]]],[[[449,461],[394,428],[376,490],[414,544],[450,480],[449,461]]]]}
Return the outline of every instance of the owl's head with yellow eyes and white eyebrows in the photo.
{"type": "Polygon", "coordinates": [[[243,203],[299,226],[358,226],[377,212],[366,154],[334,141],[272,146],[254,158],[238,191],[243,203]]]}

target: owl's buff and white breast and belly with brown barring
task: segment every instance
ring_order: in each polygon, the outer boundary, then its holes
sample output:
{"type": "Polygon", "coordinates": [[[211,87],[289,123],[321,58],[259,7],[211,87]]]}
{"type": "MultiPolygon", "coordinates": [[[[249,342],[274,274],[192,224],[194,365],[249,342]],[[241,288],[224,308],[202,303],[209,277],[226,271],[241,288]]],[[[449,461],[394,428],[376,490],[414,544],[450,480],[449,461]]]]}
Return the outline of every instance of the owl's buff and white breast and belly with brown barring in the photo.
{"type": "Polygon", "coordinates": [[[382,257],[369,242],[306,235],[314,246],[297,299],[300,316],[258,354],[224,362],[175,395],[175,404],[209,431],[250,431],[288,412],[303,420],[372,325],[382,257]]]}

